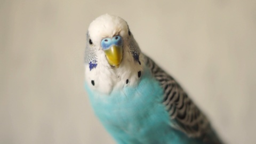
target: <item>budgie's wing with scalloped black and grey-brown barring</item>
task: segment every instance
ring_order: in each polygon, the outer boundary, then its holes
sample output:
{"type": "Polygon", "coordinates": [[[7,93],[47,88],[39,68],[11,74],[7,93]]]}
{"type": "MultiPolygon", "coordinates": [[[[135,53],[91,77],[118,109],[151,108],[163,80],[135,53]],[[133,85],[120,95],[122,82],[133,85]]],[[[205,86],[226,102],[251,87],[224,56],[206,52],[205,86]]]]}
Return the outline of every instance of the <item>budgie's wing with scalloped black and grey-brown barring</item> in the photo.
{"type": "Polygon", "coordinates": [[[148,57],[146,57],[146,65],[163,87],[163,104],[170,115],[171,126],[186,133],[189,137],[201,137],[206,131],[209,131],[208,119],[188,98],[175,79],[148,57]]]}

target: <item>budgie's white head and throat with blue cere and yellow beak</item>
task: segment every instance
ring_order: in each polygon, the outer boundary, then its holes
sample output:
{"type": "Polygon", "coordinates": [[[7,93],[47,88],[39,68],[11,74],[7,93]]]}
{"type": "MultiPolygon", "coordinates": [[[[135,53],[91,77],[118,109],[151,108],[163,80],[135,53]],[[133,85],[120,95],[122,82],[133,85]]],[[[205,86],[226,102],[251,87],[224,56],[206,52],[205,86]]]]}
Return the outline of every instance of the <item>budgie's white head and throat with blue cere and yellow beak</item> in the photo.
{"type": "Polygon", "coordinates": [[[110,85],[111,89],[132,84],[142,67],[142,54],[125,20],[103,14],[91,22],[85,48],[87,81],[93,81],[94,87],[110,85]]]}

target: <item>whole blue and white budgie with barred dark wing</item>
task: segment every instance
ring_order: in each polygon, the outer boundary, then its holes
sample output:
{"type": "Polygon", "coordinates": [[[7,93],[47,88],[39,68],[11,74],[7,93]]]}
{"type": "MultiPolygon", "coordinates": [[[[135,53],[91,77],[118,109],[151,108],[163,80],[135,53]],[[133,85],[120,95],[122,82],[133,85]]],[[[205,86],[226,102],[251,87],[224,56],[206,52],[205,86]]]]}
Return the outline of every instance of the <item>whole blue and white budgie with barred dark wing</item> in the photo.
{"type": "Polygon", "coordinates": [[[104,14],[89,26],[85,89],[117,143],[222,143],[177,81],[141,52],[120,17],[104,14]]]}

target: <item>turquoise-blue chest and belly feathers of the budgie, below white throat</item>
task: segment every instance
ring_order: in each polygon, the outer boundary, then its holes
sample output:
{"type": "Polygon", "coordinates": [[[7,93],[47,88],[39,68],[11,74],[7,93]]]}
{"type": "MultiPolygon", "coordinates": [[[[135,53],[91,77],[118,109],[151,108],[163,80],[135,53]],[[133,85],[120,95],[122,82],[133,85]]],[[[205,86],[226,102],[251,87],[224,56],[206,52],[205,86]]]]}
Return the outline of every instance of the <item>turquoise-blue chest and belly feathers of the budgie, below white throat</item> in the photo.
{"type": "Polygon", "coordinates": [[[92,91],[87,84],[85,88],[95,114],[118,143],[194,142],[170,126],[162,104],[163,89],[148,69],[137,86],[126,86],[109,95],[92,91]]]}

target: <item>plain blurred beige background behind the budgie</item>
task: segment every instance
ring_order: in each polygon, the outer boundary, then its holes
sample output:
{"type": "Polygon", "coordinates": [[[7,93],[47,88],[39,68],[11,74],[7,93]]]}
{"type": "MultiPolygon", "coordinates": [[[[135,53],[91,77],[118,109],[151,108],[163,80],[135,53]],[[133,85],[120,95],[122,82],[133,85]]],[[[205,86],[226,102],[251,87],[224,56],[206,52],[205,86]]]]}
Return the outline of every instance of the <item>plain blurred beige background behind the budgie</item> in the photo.
{"type": "Polygon", "coordinates": [[[256,143],[256,1],[0,1],[0,143],[114,143],[83,88],[85,34],[119,15],[227,143],[256,143]]]}

